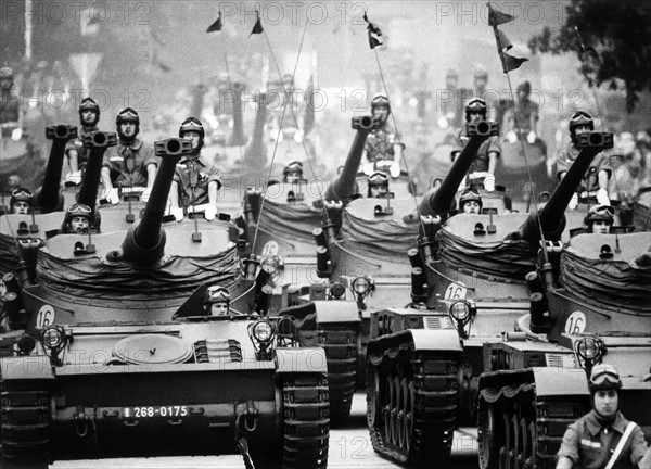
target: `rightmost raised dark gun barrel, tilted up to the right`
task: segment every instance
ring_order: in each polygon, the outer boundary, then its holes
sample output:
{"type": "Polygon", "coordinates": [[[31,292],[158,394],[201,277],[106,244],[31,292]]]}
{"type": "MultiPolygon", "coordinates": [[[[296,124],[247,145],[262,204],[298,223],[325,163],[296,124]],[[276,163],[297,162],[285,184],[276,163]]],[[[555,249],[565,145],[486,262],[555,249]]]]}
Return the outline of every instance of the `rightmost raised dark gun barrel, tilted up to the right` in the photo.
{"type": "Polygon", "coordinates": [[[538,218],[533,213],[521,227],[522,237],[528,241],[540,240],[540,229],[548,241],[558,241],[565,228],[565,208],[572,200],[574,191],[580,183],[590,163],[602,150],[613,147],[613,135],[608,132],[587,132],[577,136],[577,148],[580,149],[576,160],[559,182],[549,201],[538,211],[538,218]]]}

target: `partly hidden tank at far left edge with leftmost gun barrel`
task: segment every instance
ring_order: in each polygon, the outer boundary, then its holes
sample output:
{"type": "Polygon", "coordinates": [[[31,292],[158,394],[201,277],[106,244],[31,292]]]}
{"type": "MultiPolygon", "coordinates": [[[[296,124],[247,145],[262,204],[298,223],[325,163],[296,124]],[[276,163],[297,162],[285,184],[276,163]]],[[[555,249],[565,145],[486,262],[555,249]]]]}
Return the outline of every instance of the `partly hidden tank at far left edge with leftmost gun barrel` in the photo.
{"type": "Polygon", "coordinates": [[[42,185],[34,191],[35,210],[30,215],[0,216],[0,274],[17,269],[21,241],[44,240],[48,231],[61,226],[63,195],[60,181],[64,151],[66,142],[77,137],[77,127],[63,124],[49,126],[46,137],[52,140],[52,147],[42,185]]]}

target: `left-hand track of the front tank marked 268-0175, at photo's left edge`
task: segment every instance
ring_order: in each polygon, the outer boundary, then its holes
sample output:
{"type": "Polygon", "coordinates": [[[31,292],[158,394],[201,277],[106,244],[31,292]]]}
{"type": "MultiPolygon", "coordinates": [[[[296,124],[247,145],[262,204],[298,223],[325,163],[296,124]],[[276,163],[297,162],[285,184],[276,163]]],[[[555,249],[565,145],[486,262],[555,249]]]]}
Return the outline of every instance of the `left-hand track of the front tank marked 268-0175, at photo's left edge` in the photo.
{"type": "Polygon", "coordinates": [[[3,384],[0,390],[0,449],[15,461],[35,460],[50,452],[50,393],[34,384],[3,384]]]}

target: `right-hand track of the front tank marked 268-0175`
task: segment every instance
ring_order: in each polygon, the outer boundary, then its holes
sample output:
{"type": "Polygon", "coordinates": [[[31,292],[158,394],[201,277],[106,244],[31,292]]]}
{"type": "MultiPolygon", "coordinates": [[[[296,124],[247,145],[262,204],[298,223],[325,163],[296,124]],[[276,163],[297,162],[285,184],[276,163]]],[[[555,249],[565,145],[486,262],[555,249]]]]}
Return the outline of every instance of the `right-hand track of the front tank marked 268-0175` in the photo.
{"type": "Polygon", "coordinates": [[[330,436],[328,379],[321,373],[291,373],[282,380],[282,467],[324,469],[330,436]]]}

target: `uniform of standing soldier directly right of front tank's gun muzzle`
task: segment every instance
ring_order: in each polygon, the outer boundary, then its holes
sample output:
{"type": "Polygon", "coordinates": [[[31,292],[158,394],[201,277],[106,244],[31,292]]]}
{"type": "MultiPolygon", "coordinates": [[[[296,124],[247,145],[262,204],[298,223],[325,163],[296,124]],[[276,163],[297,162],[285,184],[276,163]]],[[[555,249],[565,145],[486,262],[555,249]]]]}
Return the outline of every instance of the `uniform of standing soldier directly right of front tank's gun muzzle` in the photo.
{"type": "Polygon", "coordinates": [[[217,166],[208,164],[201,154],[196,157],[183,156],[177,164],[174,180],[179,185],[179,195],[183,206],[208,203],[208,185],[210,182],[215,181],[218,188],[221,187],[217,166]],[[191,181],[194,172],[196,172],[196,186],[193,190],[191,181]]]}

